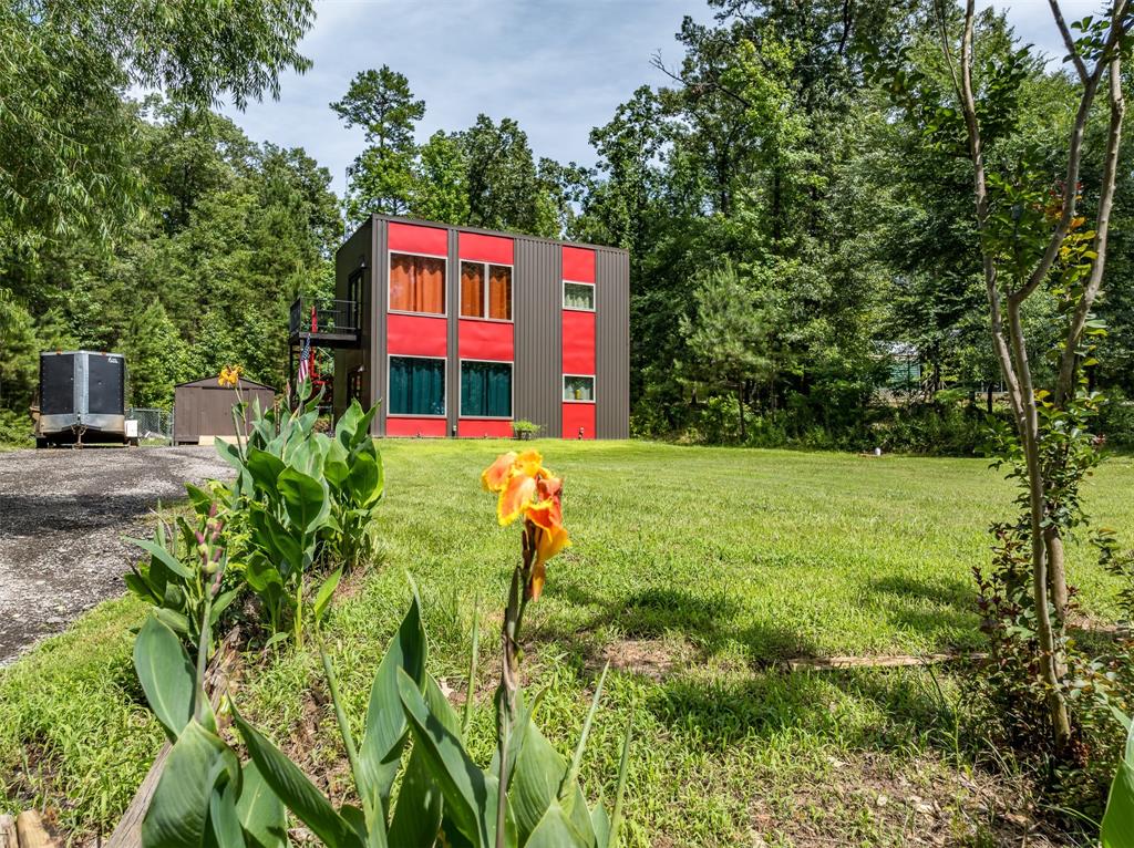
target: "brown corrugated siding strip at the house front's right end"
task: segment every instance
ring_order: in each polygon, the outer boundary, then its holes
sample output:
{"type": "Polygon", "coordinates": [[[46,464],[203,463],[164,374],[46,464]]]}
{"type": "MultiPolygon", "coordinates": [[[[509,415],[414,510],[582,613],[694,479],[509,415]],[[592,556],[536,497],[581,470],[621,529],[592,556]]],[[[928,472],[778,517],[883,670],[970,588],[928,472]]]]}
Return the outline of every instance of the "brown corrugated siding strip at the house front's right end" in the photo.
{"type": "Polygon", "coordinates": [[[595,257],[595,432],[629,438],[629,256],[598,251],[595,257]]]}

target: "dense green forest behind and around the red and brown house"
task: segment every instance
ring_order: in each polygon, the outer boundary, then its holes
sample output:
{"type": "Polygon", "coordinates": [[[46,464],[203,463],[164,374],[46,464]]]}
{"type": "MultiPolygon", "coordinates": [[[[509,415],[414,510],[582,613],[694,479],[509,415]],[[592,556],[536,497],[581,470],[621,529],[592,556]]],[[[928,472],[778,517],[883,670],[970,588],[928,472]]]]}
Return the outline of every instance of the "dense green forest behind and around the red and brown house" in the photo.
{"type": "MultiPolygon", "coordinates": [[[[593,167],[536,156],[508,117],[482,115],[418,141],[429,104],[413,94],[413,69],[359,69],[328,107],[329,120],[365,133],[341,200],[306,152],[254,144],[218,115],[217,91],[164,79],[160,66],[119,56],[110,42],[77,51],[20,5],[5,11],[0,25],[32,45],[0,68],[15,86],[0,136],[7,419],[32,400],[41,348],[121,350],[136,406],[168,407],[174,383],[230,362],[281,384],[288,304],[330,290],[344,227],[380,211],[627,248],[637,434],[973,450],[999,375],[971,169],[955,147],[925,142],[931,105],[904,111],[871,73],[900,50],[920,71],[921,102],[945,108],[930,5],[710,6],[711,25],[675,22],[684,58],[654,62],[667,83],[627,92],[591,130],[593,167]],[[70,69],[60,70],[60,54],[70,69]],[[12,71],[20,61],[43,62],[60,87],[22,88],[12,71]],[[79,76],[85,91],[75,90],[79,76]],[[163,94],[127,97],[147,82],[163,94]],[[88,146],[75,153],[59,142],[52,163],[56,141],[43,130],[48,152],[31,156],[20,145],[36,130],[10,126],[22,109],[27,120],[53,110],[71,121],[60,132],[88,146]],[[36,194],[33,183],[60,172],[81,178],[76,164],[100,175],[93,188],[36,194]]],[[[311,23],[303,3],[279,9],[296,32],[311,23]]],[[[303,67],[294,42],[269,43],[279,32],[264,28],[263,49],[277,51],[268,67],[303,67]]],[[[992,12],[976,39],[990,66],[1021,46],[992,12]]],[[[220,70],[218,91],[238,102],[276,84],[220,70]]],[[[1010,163],[1038,150],[1056,186],[1070,79],[1058,61],[1032,60],[1016,82],[1016,113],[1004,121],[1012,129],[991,155],[1010,163]]],[[[1103,111],[1089,127],[1088,175],[1099,171],[1103,111]]],[[[1123,154],[1128,161],[1129,142],[1123,154]]],[[[1129,168],[1120,172],[1099,309],[1109,334],[1092,378],[1111,400],[1102,430],[1118,442],[1134,438],[1124,402],[1134,396],[1134,185],[1129,168]]],[[[1094,190],[1082,187],[1088,205],[1094,190]]],[[[1049,298],[1032,308],[1042,345],[1056,307],[1049,298]]]]}

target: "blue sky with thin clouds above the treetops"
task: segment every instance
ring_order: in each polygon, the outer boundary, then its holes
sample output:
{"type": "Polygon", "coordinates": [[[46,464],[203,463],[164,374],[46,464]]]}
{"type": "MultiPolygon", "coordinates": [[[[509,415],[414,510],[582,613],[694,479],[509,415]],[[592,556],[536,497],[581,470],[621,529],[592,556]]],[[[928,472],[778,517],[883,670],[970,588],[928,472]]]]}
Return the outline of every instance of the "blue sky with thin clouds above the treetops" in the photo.
{"type": "MultiPolygon", "coordinates": [[[[1072,20],[1100,3],[1061,6],[1072,20]]],[[[1048,0],[995,5],[1008,9],[1025,42],[1061,58],[1048,0]]],[[[363,136],[328,104],[359,70],[389,65],[408,77],[425,101],[420,141],[464,129],[484,112],[519,121],[536,156],[593,164],[591,128],[637,86],[666,82],[650,60],[680,60],[674,34],[684,16],[712,17],[701,0],[322,0],[315,10],[299,45],[313,67],[284,75],[278,101],[225,111],[256,142],[306,149],[330,169],[339,194],[363,136]]]]}

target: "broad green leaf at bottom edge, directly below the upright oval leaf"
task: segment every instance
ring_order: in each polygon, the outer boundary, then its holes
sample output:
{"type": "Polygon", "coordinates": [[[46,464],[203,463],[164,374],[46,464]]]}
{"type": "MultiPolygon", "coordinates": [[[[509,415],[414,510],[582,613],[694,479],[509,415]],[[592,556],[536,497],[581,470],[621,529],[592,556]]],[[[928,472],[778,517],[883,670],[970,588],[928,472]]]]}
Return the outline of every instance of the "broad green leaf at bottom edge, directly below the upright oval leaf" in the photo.
{"type": "Polygon", "coordinates": [[[239,768],[220,737],[196,721],[186,724],[169,752],[142,822],[142,843],[146,848],[200,846],[214,788],[236,780],[239,768]]]}

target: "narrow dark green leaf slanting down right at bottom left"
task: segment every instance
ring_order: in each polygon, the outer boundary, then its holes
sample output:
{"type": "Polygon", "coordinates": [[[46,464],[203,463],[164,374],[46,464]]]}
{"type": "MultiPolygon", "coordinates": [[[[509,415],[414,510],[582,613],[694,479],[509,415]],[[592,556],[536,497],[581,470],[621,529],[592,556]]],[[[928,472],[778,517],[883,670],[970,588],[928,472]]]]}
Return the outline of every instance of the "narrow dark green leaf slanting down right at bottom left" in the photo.
{"type": "Polygon", "coordinates": [[[256,764],[272,790],[319,837],[328,848],[364,848],[354,828],[339,815],[323,794],[299,771],[299,766],[284,756],[244,718],[232,710],[232,721],[248,748],[248,756],[256,764]]]}

